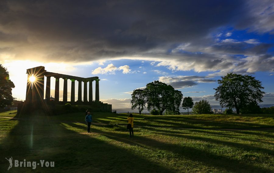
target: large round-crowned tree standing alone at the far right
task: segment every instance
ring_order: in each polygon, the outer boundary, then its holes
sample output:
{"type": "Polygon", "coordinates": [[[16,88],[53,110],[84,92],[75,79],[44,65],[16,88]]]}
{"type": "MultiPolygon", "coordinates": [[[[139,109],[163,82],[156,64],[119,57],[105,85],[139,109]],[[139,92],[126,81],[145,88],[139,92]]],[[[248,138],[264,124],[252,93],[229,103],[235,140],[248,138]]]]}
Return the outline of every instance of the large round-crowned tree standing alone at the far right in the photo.
{"type": "Polygon", "coordinates": [[[220,102],[222,107],[235,108],[236,113],[246,107],[251,102],[262,102],[265,92],[264,87],[259,80],[249,75],[227,73],[226,76],[218,80],[220,84],[215,92],[216,101],[220,102]]]}

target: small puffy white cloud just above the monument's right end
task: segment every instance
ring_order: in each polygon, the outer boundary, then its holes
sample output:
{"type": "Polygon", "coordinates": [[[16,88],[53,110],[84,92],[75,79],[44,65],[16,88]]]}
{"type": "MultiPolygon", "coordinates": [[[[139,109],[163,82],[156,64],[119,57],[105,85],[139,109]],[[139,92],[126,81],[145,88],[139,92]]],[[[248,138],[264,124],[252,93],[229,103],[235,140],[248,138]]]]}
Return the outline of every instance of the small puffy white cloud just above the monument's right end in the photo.
{"type": "Polygon", "coordinates": [[[92,74],[115,74],[116,70],[123,70],[122,73],[126,74],[129,73],[131,70],[129,69],[128,65],[115,67],[113,64],[107,65],[106,68],[98,67],[92,71],[92,74]]]}

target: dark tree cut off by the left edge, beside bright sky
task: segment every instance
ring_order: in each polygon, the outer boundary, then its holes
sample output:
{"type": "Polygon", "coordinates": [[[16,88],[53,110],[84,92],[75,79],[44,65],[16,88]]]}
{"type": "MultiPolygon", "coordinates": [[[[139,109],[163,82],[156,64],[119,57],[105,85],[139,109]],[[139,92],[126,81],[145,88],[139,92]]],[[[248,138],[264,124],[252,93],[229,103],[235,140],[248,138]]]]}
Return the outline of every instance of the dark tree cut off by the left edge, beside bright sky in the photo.
{"type": "Polygon", "coordinates": [[[12,88],[14,84],[9,80],[9,72],[0,64],[0,108],[12,104],[15,98],[12,97],[12,88]]]}

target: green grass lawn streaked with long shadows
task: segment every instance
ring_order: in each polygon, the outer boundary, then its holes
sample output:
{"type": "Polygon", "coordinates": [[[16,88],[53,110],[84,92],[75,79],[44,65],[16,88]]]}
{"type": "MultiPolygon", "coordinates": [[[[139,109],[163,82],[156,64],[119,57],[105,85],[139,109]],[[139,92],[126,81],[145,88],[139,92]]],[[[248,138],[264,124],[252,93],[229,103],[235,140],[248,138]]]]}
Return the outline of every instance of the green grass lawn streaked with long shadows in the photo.
{"type": "Polygon", "coordinates": [[[94,113],[88,134],[84,113],[1,118],[14,113],[0,114],[0,172],[11,156],[55,161],[36,172],[274,172],[274,115],[134,114],[129,138],[128,114],[94,113]]]}

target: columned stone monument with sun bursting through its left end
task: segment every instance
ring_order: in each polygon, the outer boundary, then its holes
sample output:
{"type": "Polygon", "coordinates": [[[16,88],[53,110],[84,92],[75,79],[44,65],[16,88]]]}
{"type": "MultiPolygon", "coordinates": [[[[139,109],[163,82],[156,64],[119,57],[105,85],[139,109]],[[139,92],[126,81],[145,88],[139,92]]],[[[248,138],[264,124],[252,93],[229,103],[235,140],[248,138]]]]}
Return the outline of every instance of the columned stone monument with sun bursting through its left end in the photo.
{"type": "Polygon", "coordinates": [[[31,113],[37,109],[47,111],[50,109],[49,105],[52,104],[80,104],[94,107],[94,110],[111,112],[111,104],[102,103],[99,100],[99,77],[77,77],[65,74],[47,72],[44,66],[38,66],[26,70],[28,75],[27,88],[26,88],[26,100],[23,104],[18,107],[19,113],[31,113]],[[44,77],[46,80],[46,90],[44,98],[44,77]],[[50,101],[50,85],[51,77],[55,78],[55,91],[54,101],[50,101]],[[64,80],[63,86],[63,101],[59,101],[59,80],[64,80]],[[68,101],[68,80],[71,80],[71,97],[68,101]],[[75,101],[75,81],[78,81],[78,98],[75,101]],[[95,81],[95,101],[93,101],[93,88],[92,83],[95,81]],[[84,83],[83,88],[83,101],[82,101],[82,82],[84,83]],[[87,94],[87,83],[89,83],[89,95],[87,94]]]}

